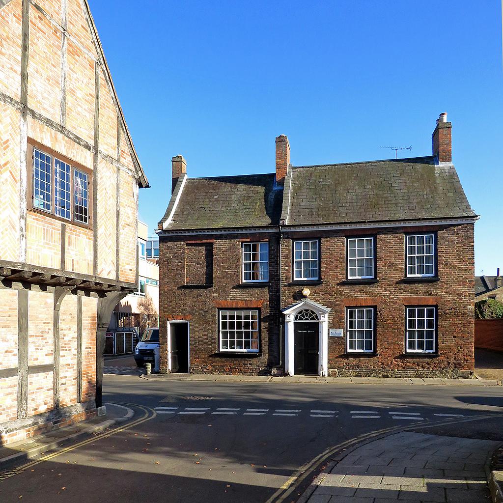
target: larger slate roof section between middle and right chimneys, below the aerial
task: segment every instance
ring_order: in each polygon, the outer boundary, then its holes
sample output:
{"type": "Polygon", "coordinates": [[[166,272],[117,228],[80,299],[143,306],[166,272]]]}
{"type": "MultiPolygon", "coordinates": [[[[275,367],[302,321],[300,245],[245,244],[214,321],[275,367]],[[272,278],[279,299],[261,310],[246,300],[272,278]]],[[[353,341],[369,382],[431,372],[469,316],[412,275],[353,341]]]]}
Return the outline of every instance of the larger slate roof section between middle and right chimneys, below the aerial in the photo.
{"type": "Polygon", "coordinates": [[[316,225],[476,217],[454,165],[434,159],[294,166],[281,218],[287,225],[316,225]]]}

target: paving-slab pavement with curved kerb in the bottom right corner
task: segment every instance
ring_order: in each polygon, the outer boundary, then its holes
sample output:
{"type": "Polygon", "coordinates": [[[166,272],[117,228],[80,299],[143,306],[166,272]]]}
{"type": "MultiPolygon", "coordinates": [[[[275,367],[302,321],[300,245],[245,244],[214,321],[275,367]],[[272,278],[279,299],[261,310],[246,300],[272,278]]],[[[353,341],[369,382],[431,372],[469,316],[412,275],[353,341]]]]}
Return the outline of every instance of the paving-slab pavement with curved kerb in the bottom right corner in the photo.
{"type": "Polygon", "coordinates": [[[395,433],[327,465],[298,503],[485,503],[489,463],[500,444],[395,433]]]}

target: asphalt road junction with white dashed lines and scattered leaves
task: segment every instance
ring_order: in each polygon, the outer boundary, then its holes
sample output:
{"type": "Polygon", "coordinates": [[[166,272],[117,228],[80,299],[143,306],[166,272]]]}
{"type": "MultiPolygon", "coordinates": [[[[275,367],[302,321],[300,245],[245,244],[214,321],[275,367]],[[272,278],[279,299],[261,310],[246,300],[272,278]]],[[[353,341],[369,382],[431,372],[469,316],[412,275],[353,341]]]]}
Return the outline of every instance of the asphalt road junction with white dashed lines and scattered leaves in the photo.
{"type": "Polygon", "coordinates": [[[500,386],[106,375],[104,401],[127,404],[133,420],[2,480],[0,501],[290,503],[327,460],[375,436],[405,428],[503,440],[500,386]]]}

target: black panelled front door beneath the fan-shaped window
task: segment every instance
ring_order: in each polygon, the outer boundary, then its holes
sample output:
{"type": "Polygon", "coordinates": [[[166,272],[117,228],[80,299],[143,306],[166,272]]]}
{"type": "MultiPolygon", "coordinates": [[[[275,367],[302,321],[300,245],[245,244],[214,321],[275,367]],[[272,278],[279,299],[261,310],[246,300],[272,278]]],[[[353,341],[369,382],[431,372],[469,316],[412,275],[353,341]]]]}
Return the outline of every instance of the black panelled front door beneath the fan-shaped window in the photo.
{"type": "Polygon", "coordinates": [[[319,322],[295,321],[295,374],[318,374],[319,322]]]}

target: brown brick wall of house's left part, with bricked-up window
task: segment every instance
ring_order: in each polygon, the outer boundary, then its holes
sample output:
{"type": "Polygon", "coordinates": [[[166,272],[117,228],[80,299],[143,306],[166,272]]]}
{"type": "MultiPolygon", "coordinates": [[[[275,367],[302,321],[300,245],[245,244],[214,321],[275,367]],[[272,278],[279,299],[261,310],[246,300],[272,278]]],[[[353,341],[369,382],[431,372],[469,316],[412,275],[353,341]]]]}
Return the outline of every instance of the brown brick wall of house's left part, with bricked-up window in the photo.
{"type": "MultiPolygon", "coordinates": [[[[210,288],[186,286],[186,243],[165,240],[159,244],[159,323],[161,338],[161,371],[167,370],[167,319],[188,319],[190,323],[190,370],[196,373],[258,374],[267,371],[278,359],[280,333],[278,292],[278,238],[269,236],[269,286],[241,284],[241,241],[238,236],[222,239],[211,236],[213,242],[213,284],[210,288]],[[260,357],[218,355],[218,310],[215,302],[262,302],[260,357]]],[[[267,239],[261,234],[257,240],[267,239]]],[[[189,243],[194,246],[195,243],[189,243]]],[[[204,248],[207,245],[201,246],[204,248]]],[[[191,252],[189,253],[192,253],[191,252]]],[[[199,250],[200,251],[200,250],[199,250]]],[[[208,254],[209,256],[209,254],[208,254]]],[[[192,255],[189,255],[189,259],[192,255]]],[[[196,260],[195,252],[194,257],[196,260]]],[[[202,261],[202,257],[199,257],[202,261]]],[[[192,264],[187,263],[187,267],[192,264]]],[[[206,268],[206,264],[205,264],[206,268]]],[[[201,280],[201,277],[198,279],[201,280]]],[[[254,309],[239,307],[239,309],[254,309]]]]}

